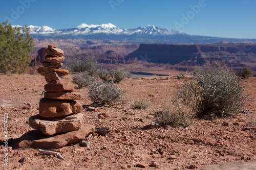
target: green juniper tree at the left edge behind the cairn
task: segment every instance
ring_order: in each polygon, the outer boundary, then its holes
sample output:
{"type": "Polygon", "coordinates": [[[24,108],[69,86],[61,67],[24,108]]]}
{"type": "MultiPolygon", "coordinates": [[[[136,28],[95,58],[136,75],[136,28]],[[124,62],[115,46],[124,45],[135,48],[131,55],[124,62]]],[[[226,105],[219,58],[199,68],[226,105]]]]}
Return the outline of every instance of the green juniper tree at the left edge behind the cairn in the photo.
{"type": "Polygon", "coordinates": [[[30,63],[34,50],[29,28],[13,28],[8,20],[0,23],[0,72],[22,74],[30,63]]]}

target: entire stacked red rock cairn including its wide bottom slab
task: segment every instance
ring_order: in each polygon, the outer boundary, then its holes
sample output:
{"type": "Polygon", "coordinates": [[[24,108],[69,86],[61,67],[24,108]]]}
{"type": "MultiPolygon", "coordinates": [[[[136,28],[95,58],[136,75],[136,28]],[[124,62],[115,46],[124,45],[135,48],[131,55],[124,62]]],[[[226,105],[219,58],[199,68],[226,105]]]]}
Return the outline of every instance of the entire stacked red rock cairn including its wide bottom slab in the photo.
{"type": "Polygon", "coordinates": [[[29,131],[15,139],[14,148],[32,147],[41,149],[61,148],[68,143],[79,142],[95,131],[93,125],[83,124],[82,105],[77,101],[81,94],[74,92],[73,84],[63,80],[69,70],[61,69],[65,59],[63,51],[55,44],[44,50],[47,54],[37,69],[48,82],[44,98],[39,102],[39,114],[29,118],[29,131]]]}

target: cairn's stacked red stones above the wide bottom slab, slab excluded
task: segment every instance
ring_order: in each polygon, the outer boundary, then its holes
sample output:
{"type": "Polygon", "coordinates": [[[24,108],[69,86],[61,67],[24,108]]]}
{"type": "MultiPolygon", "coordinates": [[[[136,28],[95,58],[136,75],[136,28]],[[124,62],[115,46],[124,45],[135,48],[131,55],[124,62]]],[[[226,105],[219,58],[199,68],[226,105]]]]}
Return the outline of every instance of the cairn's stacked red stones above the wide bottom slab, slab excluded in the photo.
{"type": "Polygon", "coordinates": [[[81,99],[80,93],[70,81],[63,80],[69,73],[61,69],[65,59],[63,51],[55,44],[48,45],[44,50],[47,54],[38,73],[45,76],[45,97],[39,102],[39,114],[29,118],[29,125],[33,129],[40,129],[46,135],[78,130],[83,125],[82,105],[76,101],[81,99]]]}

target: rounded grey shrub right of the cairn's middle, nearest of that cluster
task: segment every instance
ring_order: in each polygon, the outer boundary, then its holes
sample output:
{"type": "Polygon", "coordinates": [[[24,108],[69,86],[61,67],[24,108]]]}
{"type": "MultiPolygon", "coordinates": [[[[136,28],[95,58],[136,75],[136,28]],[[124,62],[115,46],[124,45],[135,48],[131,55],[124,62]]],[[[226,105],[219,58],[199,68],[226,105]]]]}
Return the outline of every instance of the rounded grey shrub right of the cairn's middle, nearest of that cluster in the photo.
{"type": "Polygon", "coordinates": [[[88,86],[88,93],[94,103],[120,105],[124,104],[123,89],[111,82],[93,81],[88,86]]]}

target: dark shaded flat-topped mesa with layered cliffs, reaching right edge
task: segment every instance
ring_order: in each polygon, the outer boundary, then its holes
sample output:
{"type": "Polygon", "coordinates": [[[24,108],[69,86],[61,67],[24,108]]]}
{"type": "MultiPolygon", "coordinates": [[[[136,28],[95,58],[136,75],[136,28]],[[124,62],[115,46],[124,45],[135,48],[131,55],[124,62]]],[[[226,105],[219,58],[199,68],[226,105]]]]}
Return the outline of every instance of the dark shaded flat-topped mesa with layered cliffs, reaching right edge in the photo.
{"type": "Polygon", "coordinates": [[[126,63],[143,60],[189,68],[207,61],[219,60],[234,68],[256,69],[255,44],[140,44],[138,50],[125,57],[126,63]],[[139,57],[142,56],[142,57],[139,57]]]}

